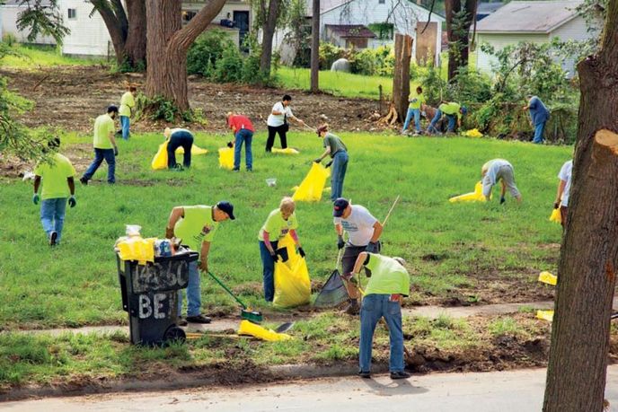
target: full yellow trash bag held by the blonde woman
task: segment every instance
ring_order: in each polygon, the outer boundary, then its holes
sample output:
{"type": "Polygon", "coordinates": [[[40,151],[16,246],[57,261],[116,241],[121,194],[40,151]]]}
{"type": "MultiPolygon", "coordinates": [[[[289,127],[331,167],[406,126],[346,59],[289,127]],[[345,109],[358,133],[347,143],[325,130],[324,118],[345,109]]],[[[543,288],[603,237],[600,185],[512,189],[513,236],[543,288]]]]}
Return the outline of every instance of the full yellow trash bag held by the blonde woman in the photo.
{"type": "Polygon", "coordinates": [[[275,298],[272,305],[291,308],[311,300],[311,279],[304,258],[296,253],[294,240],[288,234],[278,243],[278,249],[287,249],[287,261],[275,263],[275,298]]]}

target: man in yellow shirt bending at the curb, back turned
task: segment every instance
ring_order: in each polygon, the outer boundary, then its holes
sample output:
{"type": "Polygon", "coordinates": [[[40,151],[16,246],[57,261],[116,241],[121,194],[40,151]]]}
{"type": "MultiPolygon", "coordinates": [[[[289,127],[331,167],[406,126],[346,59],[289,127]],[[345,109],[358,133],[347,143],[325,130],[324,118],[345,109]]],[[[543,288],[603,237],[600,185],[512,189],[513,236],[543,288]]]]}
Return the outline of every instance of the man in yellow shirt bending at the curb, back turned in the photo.
{"type": "Polygon", "coordinates": [[[404,264],[402,258],[362,252],[352,270],[352,281],[358,282],[361,267],[365,267],[366,276],[369,277],[360,309],[358,375],[362,378],[371,377],[375,325],[382,318],[388,326],[391,342],[391,379],[410,378],[410,374],[403,370],[402,297],[410,294],[410,274],[403,267],[404,264]]]}

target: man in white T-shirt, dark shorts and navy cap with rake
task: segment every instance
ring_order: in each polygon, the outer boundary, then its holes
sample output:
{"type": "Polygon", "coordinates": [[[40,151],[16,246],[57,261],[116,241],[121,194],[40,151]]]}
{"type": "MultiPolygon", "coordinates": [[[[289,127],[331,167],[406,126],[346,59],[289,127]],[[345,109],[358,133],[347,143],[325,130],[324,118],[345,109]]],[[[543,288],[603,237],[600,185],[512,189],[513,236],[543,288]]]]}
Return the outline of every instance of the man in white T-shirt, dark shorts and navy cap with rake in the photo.
{"type": "Polygon", "coordinates": [[[354,263],[358,255],[364,251],[379,253],[382,224],[369,211],[360,205],[350,205],[349,200],[340,197],[333,204],[335,231],[337,232],[337,248],[343,249],[341,259],[341,276],[349,294],[349,305],[346,313],[356,315],[358,306],[358,287],[349,281],[354,263]],[[343,231],[348,232],[348,242],[343,241],[343,231]]]}

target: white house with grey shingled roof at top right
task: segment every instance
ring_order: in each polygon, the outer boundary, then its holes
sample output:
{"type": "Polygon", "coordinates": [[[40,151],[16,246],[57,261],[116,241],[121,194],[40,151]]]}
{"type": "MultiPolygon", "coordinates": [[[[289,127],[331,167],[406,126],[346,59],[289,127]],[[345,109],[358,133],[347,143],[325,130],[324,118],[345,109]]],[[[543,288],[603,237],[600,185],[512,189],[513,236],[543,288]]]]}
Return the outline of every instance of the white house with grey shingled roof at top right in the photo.
{"type": "MultiPolygon", "coordinates": [[[[477,23],[477,67],[485,73],[491,73],[492,66],[497,63],[495,57],[481,50],[479,46],[482,43],[500,50],[520,41],[546,43],[552,38],[566,41],[598,36],[598,31],[587,30],[586,21],[576,10],[582,3],[583,0],[513,1],[500,7],[477,23]]],[[[561,65],[569,74],[574,73],[575,63],[572,59],[561,62],[561,65]]]]}

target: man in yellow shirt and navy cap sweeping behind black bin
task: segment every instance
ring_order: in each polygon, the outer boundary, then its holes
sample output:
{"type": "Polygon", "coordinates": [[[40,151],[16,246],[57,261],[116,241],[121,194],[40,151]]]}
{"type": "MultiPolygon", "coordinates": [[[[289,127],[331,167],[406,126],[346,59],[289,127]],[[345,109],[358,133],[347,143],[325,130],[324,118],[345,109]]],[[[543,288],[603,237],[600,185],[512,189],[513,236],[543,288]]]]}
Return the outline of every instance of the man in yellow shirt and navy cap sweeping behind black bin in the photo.
{"type": "Polygon", "coordinates": [[[199,250],[198,262],[189,265],[189,285],[187,285],[187,319],[183,320],[182,291],[178,291],[178,316],[179,324],[184,326],[187,322],[210,323],[210,318],[201,314],[201,292],[199,288],[199,269],[208,271],[208,252],[210,242],[213,240],[219,222],[227,219],[234,220],[234,206],[221,201],[216,206],[176,206],[165,228],[165,237],[181,239],[191,250],[199,250]]]}

